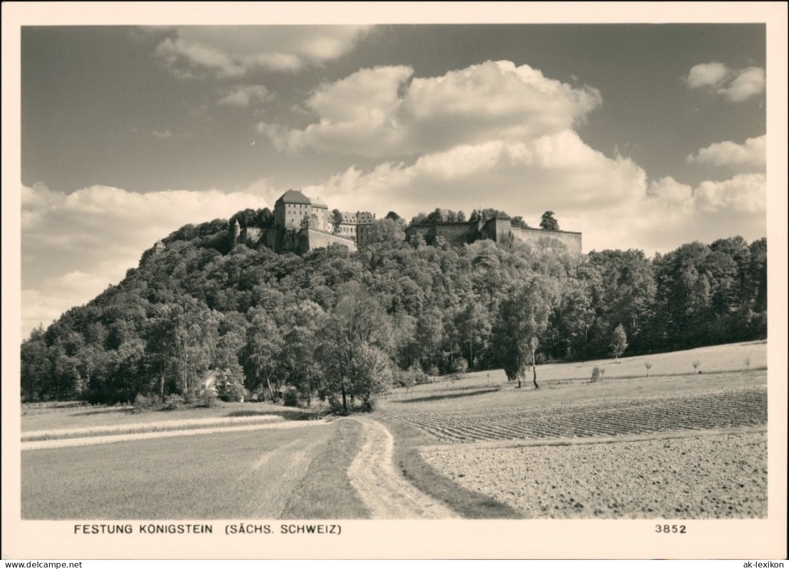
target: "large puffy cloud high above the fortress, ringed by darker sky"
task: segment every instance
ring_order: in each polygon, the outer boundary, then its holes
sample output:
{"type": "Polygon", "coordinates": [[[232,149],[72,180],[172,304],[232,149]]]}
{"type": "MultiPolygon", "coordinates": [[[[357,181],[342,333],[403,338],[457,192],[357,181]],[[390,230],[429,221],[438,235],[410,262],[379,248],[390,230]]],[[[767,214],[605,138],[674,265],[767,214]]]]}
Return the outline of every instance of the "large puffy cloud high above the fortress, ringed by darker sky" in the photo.
{"type": "Polygon", "coordinates": [[[562,132],[585,121],[601,102],[592,87],[570,87],[511,61],[424,78],[398,65],[361,69],[320,85],[304,103],[317,121],[303,130],[267,123],[258,130],[289,150],[409,156],[562,132]]]}

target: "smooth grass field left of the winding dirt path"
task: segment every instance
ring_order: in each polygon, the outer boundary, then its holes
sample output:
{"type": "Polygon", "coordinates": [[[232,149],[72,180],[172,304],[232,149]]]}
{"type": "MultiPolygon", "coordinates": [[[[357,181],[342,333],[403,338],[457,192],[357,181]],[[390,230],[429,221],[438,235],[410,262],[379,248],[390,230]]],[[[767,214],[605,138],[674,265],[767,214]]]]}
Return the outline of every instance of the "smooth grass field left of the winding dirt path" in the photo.
{"type": "Polygon", "coordinates": [[[357,442],[335,422],[24,452],[22,518],[365,517],[346,477],[357,442]]]}

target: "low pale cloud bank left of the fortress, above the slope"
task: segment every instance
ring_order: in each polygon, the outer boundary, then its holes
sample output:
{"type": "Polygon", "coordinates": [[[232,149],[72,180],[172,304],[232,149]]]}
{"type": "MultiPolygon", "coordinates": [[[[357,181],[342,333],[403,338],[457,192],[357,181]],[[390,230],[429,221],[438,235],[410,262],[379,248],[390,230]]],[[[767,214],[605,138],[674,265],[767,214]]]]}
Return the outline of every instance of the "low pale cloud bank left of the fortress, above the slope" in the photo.
{"type": "Polygon", "coordinates": [[[143,251],[187,223],[266,207],[264,180],[241,192],[138,194],[92,186],[66,195],[22,187],[22,333],[87,303],[137,266],[143,251]]]}

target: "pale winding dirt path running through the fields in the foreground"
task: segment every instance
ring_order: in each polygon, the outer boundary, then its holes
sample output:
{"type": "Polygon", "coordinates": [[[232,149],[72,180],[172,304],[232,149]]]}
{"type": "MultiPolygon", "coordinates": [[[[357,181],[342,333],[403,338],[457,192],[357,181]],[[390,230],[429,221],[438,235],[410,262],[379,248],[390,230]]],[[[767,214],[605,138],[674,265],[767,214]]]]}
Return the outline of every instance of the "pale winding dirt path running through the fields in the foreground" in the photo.
{"type": "Polygon", "coordinates": [[[458,517],[446,506],[409,484],[394,469],[394,440],[387,428],[369,418],[353,418],[365,430],[365,444],[350,467],[351,484],[372,519],[443,519],[458,517]]]}

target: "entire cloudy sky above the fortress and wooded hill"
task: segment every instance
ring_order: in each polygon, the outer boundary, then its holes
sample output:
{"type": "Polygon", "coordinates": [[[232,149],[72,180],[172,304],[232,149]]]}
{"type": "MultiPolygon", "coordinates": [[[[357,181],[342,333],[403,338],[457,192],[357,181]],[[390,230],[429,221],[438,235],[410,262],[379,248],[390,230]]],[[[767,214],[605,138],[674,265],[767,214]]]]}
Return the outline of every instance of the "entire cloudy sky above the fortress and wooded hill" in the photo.
{"type": "Polygon", "coordinates": [[[584,251],[767,234],[764,24],[26,26],[22,334],[289,188],[584,251]]]}

